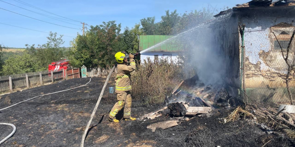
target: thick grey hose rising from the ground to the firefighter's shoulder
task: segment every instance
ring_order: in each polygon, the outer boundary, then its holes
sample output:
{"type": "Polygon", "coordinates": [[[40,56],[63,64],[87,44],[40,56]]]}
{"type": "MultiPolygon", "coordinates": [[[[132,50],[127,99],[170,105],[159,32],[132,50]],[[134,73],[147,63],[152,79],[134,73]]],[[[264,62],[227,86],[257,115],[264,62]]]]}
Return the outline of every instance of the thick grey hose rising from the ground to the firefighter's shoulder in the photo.
{"type": "Polygon", "coordinates": [[[110,71],[108,77],[106,78],[106,81],[104,82],[104,87],[102,87],[102,90],[101,90],[101,92],[100,92],[99,98],[98,98],[98,100],[97,100],[97,102],[96,102],[96,105],[95,105],[95,107],[94,107],[94,109],[93,109],[93,111],[92,111],[92,114],[91,114],[91,116],[90,116],[90,120],[89,120],[89,122],[87,123],[87,126],[86,126],[86,128],[85,128],[85,130],[84,130],[84,133],[83,133],[83,136],[82,136],[82,140],[81,140],[80,147],[84,147],[84,141],[85,141],[85,137],[86,137],[86,134],[87,134],[87,132],[88,132],[88,129],[89,129],[90,123],[91,123],[91,121],[92,121],[92,119],[93,119],[93,117],[94,117],[94,114],[95,114],[95,112],[96,112],[96,109],[97,109],[97,107],[98,107],[98,105],[99,105],[99,103],[100,103],[101,97],[102,97],[102,95],[104,94],[104,89],[106,88],[106,85],[107,85],[107,83],[108,83],[108,81],[109,81],[109,79],[110,79],[110,77],[111,77],[113,71],[115,70],[115,68],[116,68],[116,65],[112,68],[112,70],[110,71]]]}

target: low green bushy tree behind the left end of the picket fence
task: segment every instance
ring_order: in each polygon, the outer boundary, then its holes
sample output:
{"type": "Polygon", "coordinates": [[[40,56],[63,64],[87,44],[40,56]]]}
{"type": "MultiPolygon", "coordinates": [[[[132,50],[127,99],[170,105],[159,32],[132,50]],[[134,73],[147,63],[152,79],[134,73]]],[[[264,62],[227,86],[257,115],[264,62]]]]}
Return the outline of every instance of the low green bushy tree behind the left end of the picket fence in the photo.
{"type": "Polygon", "coordinates": [[[2,73],[9,74],[23,74],[28,72],[42,71],[39,60],[30,54],[23,54],[22,56],[14,55],[5,60],[2,73]]]}

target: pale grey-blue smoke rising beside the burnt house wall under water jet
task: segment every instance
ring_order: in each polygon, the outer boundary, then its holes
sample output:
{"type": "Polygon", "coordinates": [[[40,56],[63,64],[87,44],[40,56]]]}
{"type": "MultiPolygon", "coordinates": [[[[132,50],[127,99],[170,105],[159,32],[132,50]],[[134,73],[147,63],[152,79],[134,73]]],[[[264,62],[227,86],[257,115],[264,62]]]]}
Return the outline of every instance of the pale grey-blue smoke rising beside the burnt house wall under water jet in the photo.
{"type": "Polygon", "coordinates": [[[212,26],[215,23],[227,21],[230,16],[229,13],[198,25],[179,39],[183,44],[186,66],[193,68],[199,79],[206,85],[223,83],[226,72],[224,53],[214,35],[218,28],[212,26]]]}

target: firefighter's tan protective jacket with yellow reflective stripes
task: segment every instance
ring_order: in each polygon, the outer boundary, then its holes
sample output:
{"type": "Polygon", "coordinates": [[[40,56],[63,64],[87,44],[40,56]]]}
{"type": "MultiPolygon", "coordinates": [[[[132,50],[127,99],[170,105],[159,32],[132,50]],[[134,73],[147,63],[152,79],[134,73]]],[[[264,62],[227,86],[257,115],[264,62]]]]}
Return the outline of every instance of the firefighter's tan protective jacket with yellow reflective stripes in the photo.
{"type": "Polygon", "coordinates": [[[129,59],[130,65],[128,63],[122,63],[117,65],[117,76],[115,78],[115,92],[122,93],[131,90],[130,85],[130,73],[136,69],[135,60],[133,58],[129,59]]]}

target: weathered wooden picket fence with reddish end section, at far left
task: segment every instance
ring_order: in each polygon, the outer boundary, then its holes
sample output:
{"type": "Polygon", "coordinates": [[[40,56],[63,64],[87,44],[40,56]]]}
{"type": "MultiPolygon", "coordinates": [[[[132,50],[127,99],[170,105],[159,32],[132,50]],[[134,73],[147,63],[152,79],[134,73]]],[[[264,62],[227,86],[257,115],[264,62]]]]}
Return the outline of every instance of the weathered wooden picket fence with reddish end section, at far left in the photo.
{"type": "Polygon", "coordinates": [[[59,69],[51,72],[40,71],[0,76],[0,95],[70,78],[80,78],[80,69],[67,69],[66,71],[59,69]]]}

